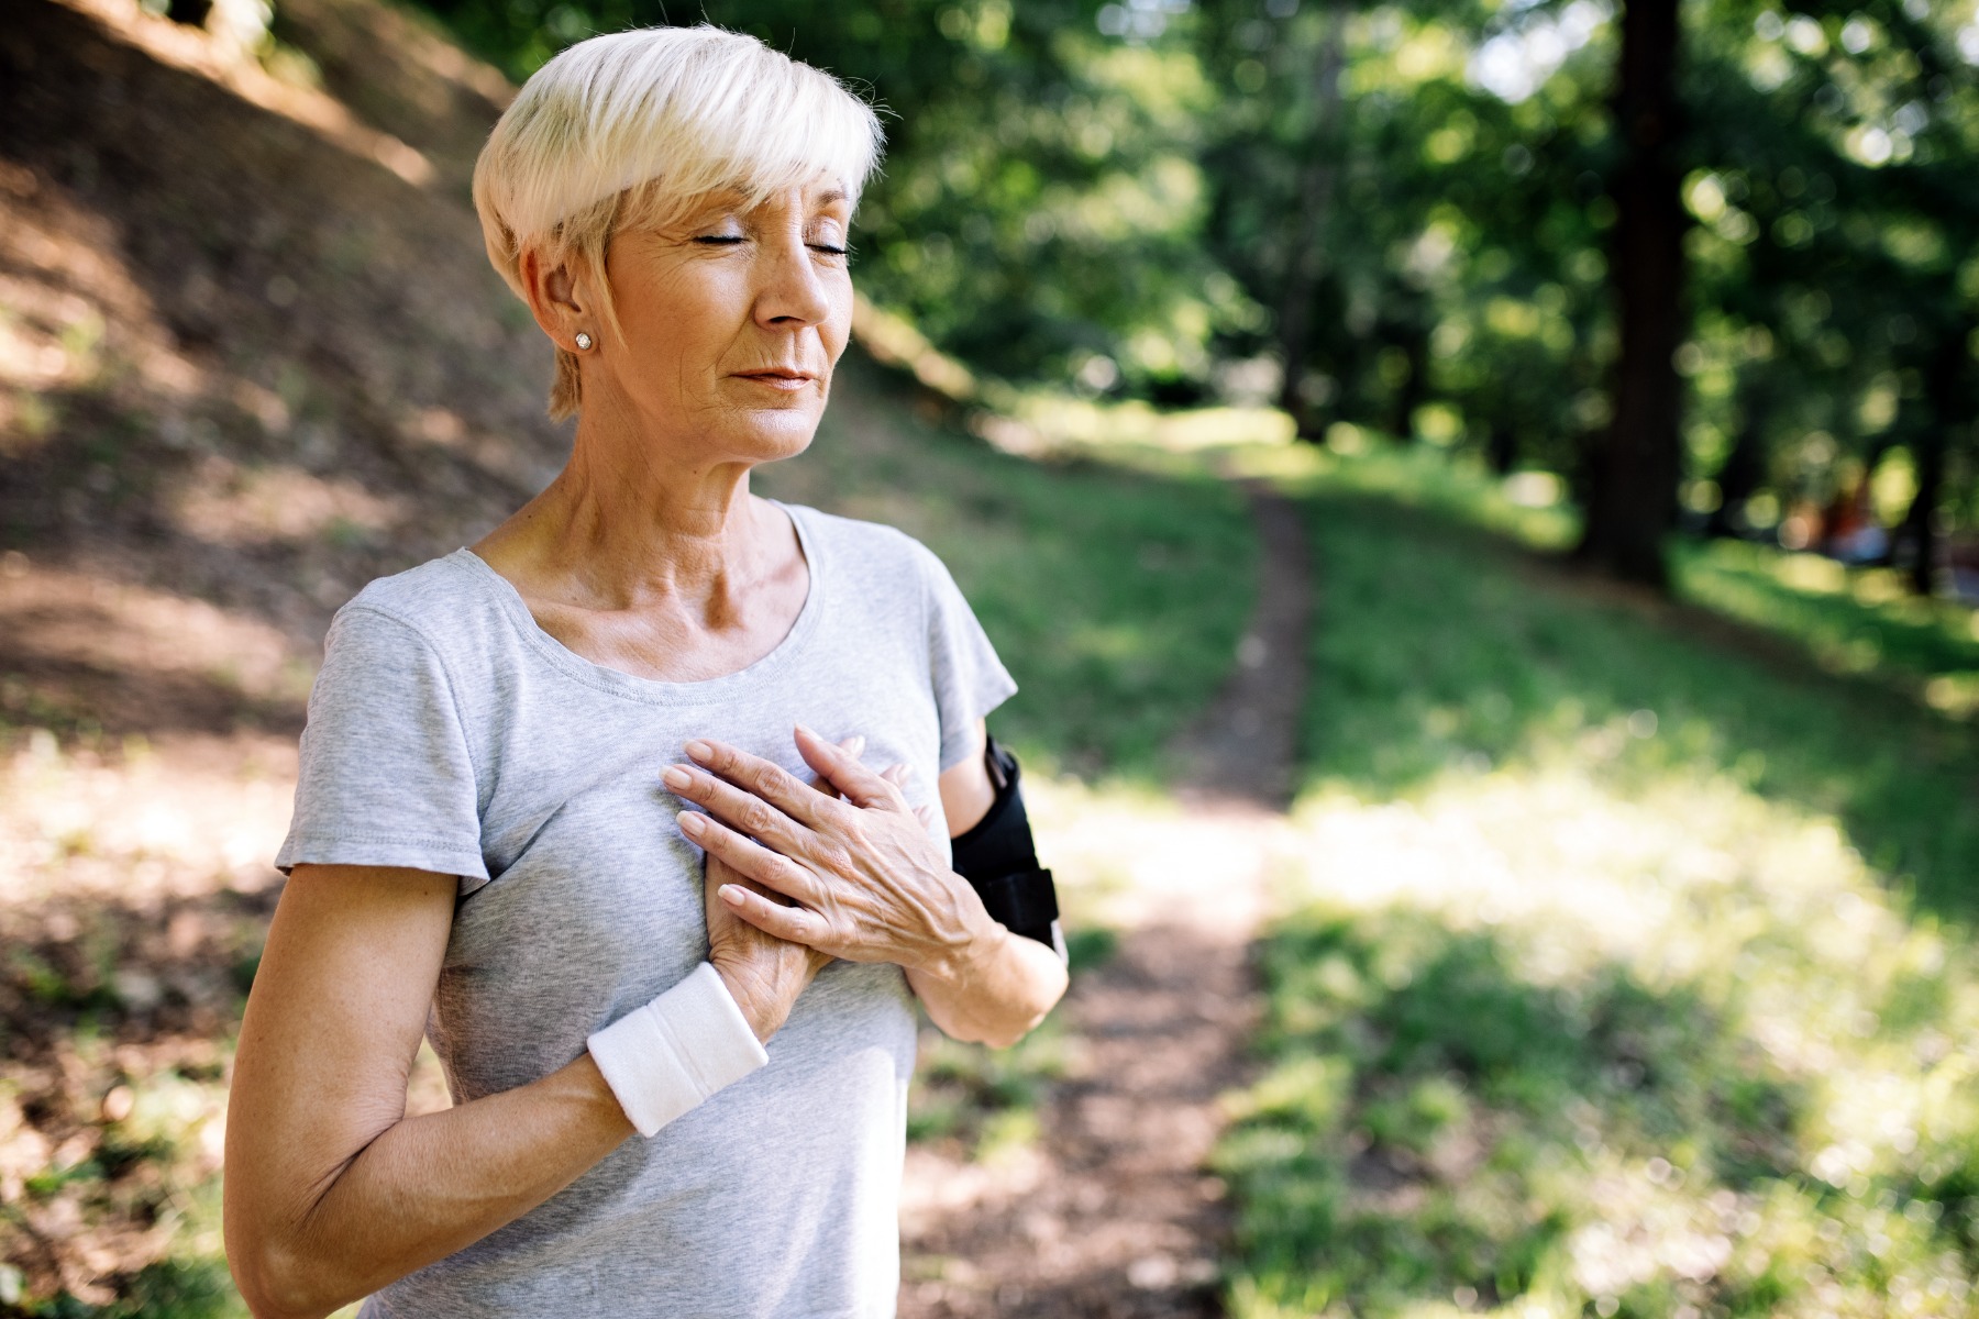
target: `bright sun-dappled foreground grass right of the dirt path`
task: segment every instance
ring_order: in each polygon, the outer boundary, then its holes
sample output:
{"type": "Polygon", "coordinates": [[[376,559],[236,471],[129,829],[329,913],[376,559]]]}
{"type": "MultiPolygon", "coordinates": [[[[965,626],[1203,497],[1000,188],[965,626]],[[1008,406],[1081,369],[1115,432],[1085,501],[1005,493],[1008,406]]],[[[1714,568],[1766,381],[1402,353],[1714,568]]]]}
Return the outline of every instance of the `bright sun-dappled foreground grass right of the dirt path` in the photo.
{"type": "Polygon", "coordinates": [[[1965,1313],[1979,965],[1728,777],[1298,811],[1237,1313],[1965,1313]]]}

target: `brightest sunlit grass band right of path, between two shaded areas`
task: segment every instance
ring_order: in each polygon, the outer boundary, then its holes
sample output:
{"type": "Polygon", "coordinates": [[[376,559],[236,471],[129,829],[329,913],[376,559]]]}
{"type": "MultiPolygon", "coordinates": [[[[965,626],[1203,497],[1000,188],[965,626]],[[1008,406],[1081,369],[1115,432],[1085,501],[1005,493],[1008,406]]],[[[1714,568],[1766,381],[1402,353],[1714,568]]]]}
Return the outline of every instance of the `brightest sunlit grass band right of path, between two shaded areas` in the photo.
{"type": "MultiPolygon", "coordinates": [[[[1730,777],[1621,791],[1567,767],[1457,771],[1411,803],[1322,797],[1300,831],[1298,892],[1518,931],[1518,973],[1536,985],[1625,967],[1650,993],[1740,999],[1781,1068],[1817,1076],[1846,1058],[1844,1090],[1916,1066],[1880,1042],[1920,1028],[1932,1034],[1904,1046],[1928,1064],[1979,1048],[1979,977],[1959,969],[1963,949],[1912,923],[1835,821],[1730,777]],[[1884,1020],[1892,1003],[1898,1018],[1884,1020]],[[1916,1020],[1924,1003],[1947,1016],[1916,1020]]],[[[1846,1107],[1837,1131],[1880,1113],[1866,1129],[1904,1141],[1922,1121],[1882,1101],[1846,1107]]]]}

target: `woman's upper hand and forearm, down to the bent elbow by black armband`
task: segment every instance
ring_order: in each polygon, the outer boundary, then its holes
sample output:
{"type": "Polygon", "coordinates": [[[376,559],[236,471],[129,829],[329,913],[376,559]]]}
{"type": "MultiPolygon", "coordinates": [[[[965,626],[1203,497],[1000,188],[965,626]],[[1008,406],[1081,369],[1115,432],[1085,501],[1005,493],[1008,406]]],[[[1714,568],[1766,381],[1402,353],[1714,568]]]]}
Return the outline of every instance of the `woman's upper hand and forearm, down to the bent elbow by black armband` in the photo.
{"type": "Polygon", "coordinates": [[[807,730],[798,730],[798,751],[845,801],[736,747],[699,746],[701,765],[667,771],[669,789],[708,811],[683,813],[681,827],[798,904],[724,886],[720,898],[742,920],[849,961],[898,963],[934,1022],[964,1040],[1013,1044],[1065,993],[1059,957],[990,918],[889,779],[807,730]]]}

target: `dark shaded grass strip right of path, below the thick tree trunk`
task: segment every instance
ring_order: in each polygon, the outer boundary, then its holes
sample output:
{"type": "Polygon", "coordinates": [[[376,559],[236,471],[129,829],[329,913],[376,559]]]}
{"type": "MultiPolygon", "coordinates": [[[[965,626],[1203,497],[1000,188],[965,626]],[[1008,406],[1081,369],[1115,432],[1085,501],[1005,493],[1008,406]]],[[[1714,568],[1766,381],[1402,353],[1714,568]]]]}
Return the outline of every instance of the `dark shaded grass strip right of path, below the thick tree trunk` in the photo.
{"type": "Polygon", "coordinates": [[[1449,769],[1546,763],[1613,785],[1730,775],[1838,819],[1928,908],[1979,908],[1967,730],[1589,599],[1389,500],[1320,494],[1310,526],[1308,789],[1387,799],[1449,769]]]}

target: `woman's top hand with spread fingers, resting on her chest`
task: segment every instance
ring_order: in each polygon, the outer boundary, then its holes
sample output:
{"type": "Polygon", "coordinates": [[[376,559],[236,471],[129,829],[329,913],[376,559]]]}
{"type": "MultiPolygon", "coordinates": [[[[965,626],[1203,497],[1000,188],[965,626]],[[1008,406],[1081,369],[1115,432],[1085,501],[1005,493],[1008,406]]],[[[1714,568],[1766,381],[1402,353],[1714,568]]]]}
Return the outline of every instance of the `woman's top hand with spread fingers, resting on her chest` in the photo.
{"type": "Polygon", "coordinates": [[[843,801],[720,742],[689,742],[687,753],[697,763],[669,767],[667,789],[707,815],[683,811],[683,833],[710,858],[798,904],[724,884],[720,900],[758,929],[847,961],[891,961],[942,979],[1007,937],[968,880],[948,868],[895,781],[807,728],[798,728],[798,753],[843,801]]]}

